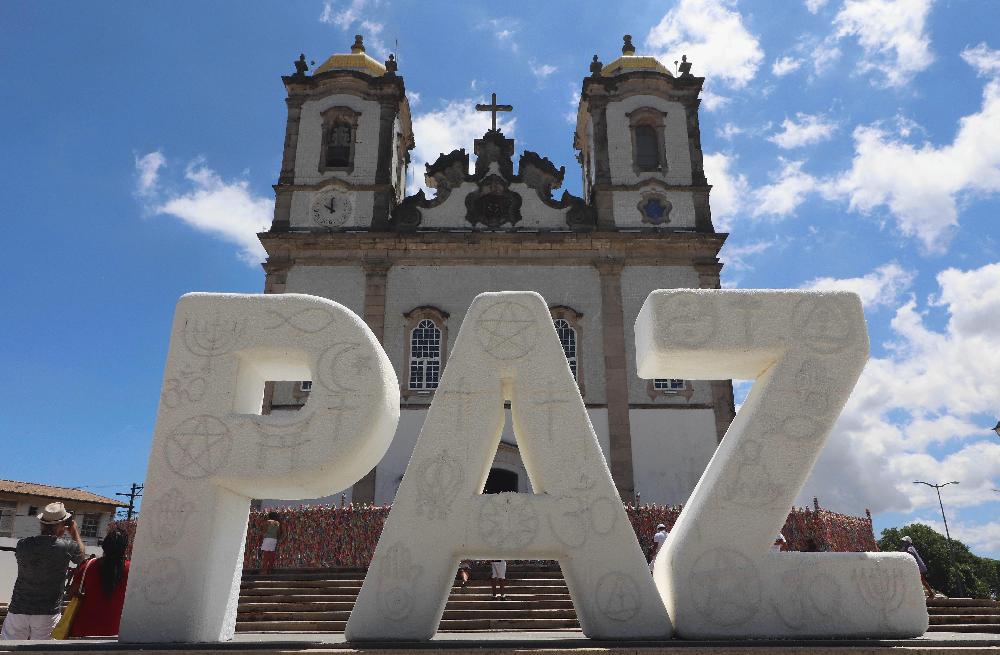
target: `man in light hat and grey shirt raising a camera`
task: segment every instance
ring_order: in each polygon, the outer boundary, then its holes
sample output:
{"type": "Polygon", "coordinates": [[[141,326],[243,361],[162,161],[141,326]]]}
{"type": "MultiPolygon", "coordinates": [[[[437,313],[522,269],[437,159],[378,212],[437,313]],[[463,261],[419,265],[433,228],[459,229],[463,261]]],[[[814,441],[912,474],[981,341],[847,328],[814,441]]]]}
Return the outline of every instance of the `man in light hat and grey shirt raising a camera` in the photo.
{"type": "Polygon", "coordinates": [[[17,582],[0,639],[50,639],[59,621],[59,605],[69,563],[79,564],[87,547],[76,522],[62,503],[51,503],[38,515],[41,534],[17,542],[17,582]],[[63,535],[69,532],[70,539],[63,535]]]}

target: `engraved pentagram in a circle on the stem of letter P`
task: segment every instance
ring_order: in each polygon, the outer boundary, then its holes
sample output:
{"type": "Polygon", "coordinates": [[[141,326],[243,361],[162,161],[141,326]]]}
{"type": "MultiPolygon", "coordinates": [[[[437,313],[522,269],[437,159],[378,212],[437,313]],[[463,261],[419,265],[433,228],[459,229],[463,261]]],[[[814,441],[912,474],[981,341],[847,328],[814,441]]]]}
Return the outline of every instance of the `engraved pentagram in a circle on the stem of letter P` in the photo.
{"type": "Polygon", "coordinates": [[[204,478],[225,465],[232,447],[225,423],[214,416],[195,416],[167,435],[167,466],[182,478],[204,478]]]}

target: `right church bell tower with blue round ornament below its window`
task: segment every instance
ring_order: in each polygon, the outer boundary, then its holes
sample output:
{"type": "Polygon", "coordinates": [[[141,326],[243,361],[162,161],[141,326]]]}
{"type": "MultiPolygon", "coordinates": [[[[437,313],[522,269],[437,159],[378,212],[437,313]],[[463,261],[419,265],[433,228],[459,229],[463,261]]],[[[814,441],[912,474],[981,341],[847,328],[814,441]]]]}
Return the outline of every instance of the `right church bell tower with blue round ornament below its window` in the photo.
{"type": "Polygon", "coordinates": [[[675,75],[624,41],[608,65],[594,55],[577,113],[574,147],[598,229],[713,232],[698,126],[705,78],[686,57],[675,75]]]}

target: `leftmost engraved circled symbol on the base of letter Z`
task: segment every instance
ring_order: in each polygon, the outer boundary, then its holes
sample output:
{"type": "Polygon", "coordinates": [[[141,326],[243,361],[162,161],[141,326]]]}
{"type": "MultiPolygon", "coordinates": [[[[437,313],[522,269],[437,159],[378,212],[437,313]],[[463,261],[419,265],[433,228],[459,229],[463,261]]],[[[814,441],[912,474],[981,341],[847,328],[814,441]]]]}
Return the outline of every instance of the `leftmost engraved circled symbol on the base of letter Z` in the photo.
{"type": "Polygon", "coordinates": [[[691,567],[691,599],[709,621],[718,625],[741,625],[753,618],[760,606],[760,577],[745,555],[715,548],[691,567]]]}

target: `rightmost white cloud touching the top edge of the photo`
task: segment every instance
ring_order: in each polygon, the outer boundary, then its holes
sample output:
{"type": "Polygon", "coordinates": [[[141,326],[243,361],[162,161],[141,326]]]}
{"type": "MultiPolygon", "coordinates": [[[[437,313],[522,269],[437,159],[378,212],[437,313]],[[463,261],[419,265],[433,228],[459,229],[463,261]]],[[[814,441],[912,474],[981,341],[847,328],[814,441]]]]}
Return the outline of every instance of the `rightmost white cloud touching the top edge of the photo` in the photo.
{"type": "Polygon", "coordinates": [[[882,73],[904,86],[934,62],[925,32],[933,0],[845,0],[833,19],[837,38],[853,36],[863,49],[860,72],[882,73]]]}

